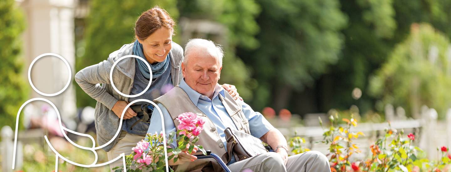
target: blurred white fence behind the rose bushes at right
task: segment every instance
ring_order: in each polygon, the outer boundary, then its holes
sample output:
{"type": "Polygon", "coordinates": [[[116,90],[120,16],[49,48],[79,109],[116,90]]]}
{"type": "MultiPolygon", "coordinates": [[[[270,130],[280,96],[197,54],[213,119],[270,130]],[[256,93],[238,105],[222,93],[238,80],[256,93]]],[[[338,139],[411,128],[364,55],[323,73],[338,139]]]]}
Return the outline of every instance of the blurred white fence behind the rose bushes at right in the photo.
{"type": "MultiPolygon", "coordinates": [[[[397,109],[396,111],[402,111],[397,109]]],[[[423,108],[420,119],[404,119],[400,120],[388,114],[386,118],[392,119],[390,122],[391,128],[398,131],[404,130],[405,135],[411,133],[415,134],[414,144],[423,149],[429,159],[437,159],[437,147],[451,146],[451,109],[446,113],[446,120],[442,122],[437,121],[437,111],[435,109],[423,108]]],[[[401,117],[403,118],[403,117],[401,117]]],[[[318,121],[316,121],[318,122],[318,121]]],[[[380,136],[385,135],[385,129],[389,127],[388,122],[382,123],[359,123],[357,127],[351,128],[351,131],[362,131],[364,137],[354,140],[362,149],[362,154],[357,155],[357,158],[364,158],[368,155],[369,146],[374,144],[375,140],[380,136]]],[[[318,150],[325,154],[328,153],[328,145],[319,143],[323,139],[324,133],[321,127],[279,127],[279,131],[286,137],[292,137],[297,132],[297,136],[304,137],[309,149],[318,150]]]]}

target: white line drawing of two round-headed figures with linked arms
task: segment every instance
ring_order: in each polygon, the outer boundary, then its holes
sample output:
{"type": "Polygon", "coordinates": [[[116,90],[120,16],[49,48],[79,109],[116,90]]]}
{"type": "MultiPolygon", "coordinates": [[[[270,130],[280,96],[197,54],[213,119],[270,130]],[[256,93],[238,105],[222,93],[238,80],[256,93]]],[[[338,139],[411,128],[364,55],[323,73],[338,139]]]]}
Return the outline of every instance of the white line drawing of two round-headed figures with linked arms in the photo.
{"type": "MultiPolygon", "coordinates": [[[[110,71],[110,81],[111,81],[111,85],[113,86],[113,88],[115,89],[115,91],[117,91],[119,94],[121,94],[121,95],[123,95],[123,96],[125,96],[125,97],[137,97],[137,96],[139,96],[139,95],[142,95],[144,92],[146,92],[146,91],[148,90],[148,88],[150,87],[151,81],[149,81],[149,84],[147,85],[146,89],[145,89],[143,92],[139,93],[138,95],[125,95],[125,94],[121,93],[120,91],[118,91],[118,90],[116,89],[116,87],[114,86],[113,81],[112,81],[112,72],[113,72],[114,66],[115,66],[120,60],[125,59],[125,58],[127,58],[127,57],[134,57],[134,58],[138,58],[138,59],[144,61],[143,58],[138,57],[138,56],[136,56],[136,55],[126,55],[126,56],[124,56],[124,57],[121,57],[119,60],[117,60],[117,61],[113,64],[113,66],[112,66],[112,68],[111,68],[111,71],[110,71]]],[[[151,71],[149,64],[146,63],[146,65],[147,65],[147,67],[149,68],[149,71],[151,71]]],[[[152,72],[151,72],[150,74],[151,74],[151,76],[152,76],[152,72]]],[[[44,96],[55,96],[55,95],[61,94],[61,93],[62,93],[63,91],[65,91],[65,90],[67,89],[67,87],[69,86],[70,81],[71,81],[71,78],[72,78],[71,76],[72,76],[72,72],[71,72],[71,70],[70,70],[69,63],[67,63],[67,61],[66,61],[62,56],[60,56],[60,55],[58,55],[58,54],[54,54],[54,53],[45,53],[45,54],[39,55],[36,59],[34,59],[34,60],[32,61],[32,63],[30,64],[30,67],[28,68],[28,81],[30,82],[30,85],[32,86],[33,90],[35,90],[37,93],[39,93],[39,94],[41,94],[41,95],[44,95],[44,96]],[[56,57],[62,59],[62,60],[64,61],[64,63],[67,65],[68,69],[69,69],[69,81],[68,81],[68,83],[66,84],[66,86],[64,86],[64,88],[63,88],[62,90],[60,90],[60,91],[58,91],[58,92],[56,92],[56,93],[53,93],[53,94],[46,94],[46,93],[42,93],[41,91],[38,91],[38,90],[36,89],[36,87],[34,87],[34,85],[32,84],[32,81],[31,81],[31,69],[32,69],[32,65],[37,61],[37,59],[39,59],[39,58],[41,58],[41,57],[44,57],[44,56],[47,56],[47,55],[53,55],[53,56],[56,56],[56,57]]],[[[58,171],[58,158],[61,158],[61,159],[63,159],[64,161],[66,161],[66,162],[68,162],[68,163],[71,163],[71,164],[73,164],[73,165],[80,166],[80,167],[100,167],[100,166],[104,166],[104,165],[106,165],[106,164],[110,164],[110,163],[112,163],[112,162],[118,160],[119,158],[122,158],[123,165],[124,165],[124,171],[127,172],[127,169],[126,169],[126,166],[125,166],[125,154],[124,154],[124,153],[120,154],[118,157],[116,157],[116,158],[114,158],[114,159],[111,159],[110,161],[108,161],[108,162],[106,162],[106,163],[96,164],[96,163],[97,163],[97,158],[98,158],[98,157],[97,157],[97,152],[96,152],[95,150],[101,149],[101,148],[105,147],[106,145],[109,145],[109,144],[114,140],[114,138],[117,137],[117,136],[119,135],[120,127],[122,126],[122,121],[123,121],[123,118],[124,118],[124,113],[125,113],[126,110],[130,107],[130,105],[132,105],[132,104],[134,104],[134,103],[136,103],[136,102],[140,102],[140,101],[144,101],[144,102],[153,104],[153,105],[156,107],[156,109],[158,110],[158,112],[160,113],[160,115],[161,115],[161,126],[162,126],[162,133],[163,133],[163,145],[164,145],[164,151],[165,151],[165,154],[166,154],[166,156],[167,156],[167,148],[166,148],[166,146],[167,146],[167,145],[166,145],[166,131],[165,131],[165,127],[164,127],[163,113],[161,113],[161,109],[160,109],[154,102],[152,102],[152,101],[150,101],[150,100],[146,100],[146,99],[138,99],[138,100],[134,100],[134,101],[130,102],[129,104],[127,104],[127,106],[124,108],[124,110],[122,111],[122,114],[121,114],[121,116],[120,116],[120,123],[119,123],[119,127],[118,127],[118,130],[116,131],[115,136],[114,136],[113,138],[111,138],[111,140],[108,141],[106,144],[95,147],[96,142],[95,142],[94,138],[93,138],[91,135],[84,134],[84,133],[79,133],[79,132],[76,132],[76,131],[72,131],[72,130],[70,130],[70,129],[68,129],[68,128],[66,128],[66,127],[64,127],[64,126],[62,125],[60,112],[59,112],[58,109],[56,108],[55,104],[53,104],[50,100],[47,100],[47,99],[45,99],[45,98],[32,98],[32,99],[30,99],[30,100],[27,100],[25,103],[23,103],[22,106],[19,108],[19,110],[18,110],[18,112],[17,112],[17,117],[16,117],[16,127],[15,127],[15,131],[14,131],[14,132],[15,132],[15,135],[14,135],[14,150],[13,150],[13,164],[12,164],[12,169],[14,169],[15,160],[16,160],[16,148],[17,148],[17,134],[18,134],[19,115],[20,115],[20,113],[22,112],[22,109],[25,107],[25,105],[27,105],[28,103],[30,103],[30,102],[32,102],[32,101],[36,101],[36,100],[45,101],[45,102],[47,102],[48,104],[50,104],[50,105],[53,107],[53,109],[55,109],[56,115],[58,116],[58,122],[59,122],[59,125],[60,125],[60,130],[61,130],[61,132],[63,133],[63,136],[64,136],[64,138],[65,138],[66,140],[68,140],[72,145],[74,145],[74,146],[76,146],[76,147],[78,147],[78,148],[80,148],[80,149],[91,150],[91,151],[94,153],[94,156],[95,156],[94,162],[91,163],[91,164],[89,164],[89,165],[86,165],[86,164],[80,164],[80,163],[75,163],[75,162],[70,161],[69,159],[65,158],[65,157],[62,156],[61,154],[59,154],[59,153],[53,148],[53,146],[51,145],[50,141],[47,139],[47,136],[44,136],[44,138],[45,138],[47,144],[48,144],[49,147],[52,149],[52,151],[55,153],[55,160],[56,160],[56,161],[55,161],[55,171],[56,171],[56,172],[58,171]],[[74,143],[72,140],[69,139],[69,137],[66,135],[66,133],[65,133],[64,131],[68,131],[68,132],[73,133],[73,134],[76,134],[76,135],[78,135],[78,136],[89,137],[89,138],[92,140],[92,147],[85,147],[85,146],[81,146],[81,145],[78,145],[78,144],[74,143]]],[[[168,160],[167,160],[167,158],[165,158],[165,162],[166,162],[166,171],[169,171],[169,166],[168,166],[168,160]]]]}

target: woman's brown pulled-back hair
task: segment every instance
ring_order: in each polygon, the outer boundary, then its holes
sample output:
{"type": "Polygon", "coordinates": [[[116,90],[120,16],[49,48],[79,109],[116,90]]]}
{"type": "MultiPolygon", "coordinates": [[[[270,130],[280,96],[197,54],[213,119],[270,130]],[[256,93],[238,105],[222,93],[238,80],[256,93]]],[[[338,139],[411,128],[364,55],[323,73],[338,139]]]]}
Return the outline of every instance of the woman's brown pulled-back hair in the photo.
{"type": "Polygon", "coordinates": [[[161,27],[172,29],[172,32],[174,32],[175,22],[165,9],[155,6],[152,9],[143,12],[143,14],[139,16],[138,20],[136,20],[136,38],[139,40],[145,40],[148,36],[152,35],[153,32],[161,27]]]}

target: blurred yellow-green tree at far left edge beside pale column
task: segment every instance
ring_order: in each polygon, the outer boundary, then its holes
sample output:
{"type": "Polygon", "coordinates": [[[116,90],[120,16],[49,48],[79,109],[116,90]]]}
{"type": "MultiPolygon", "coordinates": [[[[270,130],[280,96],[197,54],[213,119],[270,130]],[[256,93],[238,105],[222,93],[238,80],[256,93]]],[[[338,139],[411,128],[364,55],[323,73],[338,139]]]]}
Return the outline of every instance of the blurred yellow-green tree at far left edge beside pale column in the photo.
{"type": "Polygon", "coordinates": [[[28,83],[21,76],[23,14],[15,0],[0,1],[0,127],[15,126],[20,106],[28,97],[28,83]]]}

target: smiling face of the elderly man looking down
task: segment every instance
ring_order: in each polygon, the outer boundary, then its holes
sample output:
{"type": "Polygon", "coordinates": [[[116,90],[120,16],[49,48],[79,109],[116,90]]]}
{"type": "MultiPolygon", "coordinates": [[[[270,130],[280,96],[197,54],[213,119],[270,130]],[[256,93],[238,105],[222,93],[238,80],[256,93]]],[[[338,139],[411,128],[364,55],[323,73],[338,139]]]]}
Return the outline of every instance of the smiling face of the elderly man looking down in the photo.
{"type": "Polygon", "coordinates": [[[186,84],[198,93],[212,99],[216,83],[221,75],[222,65],[207,51],[194,51],[187,56],[189,56],[188,61],[182,63],[186,84]]]}

